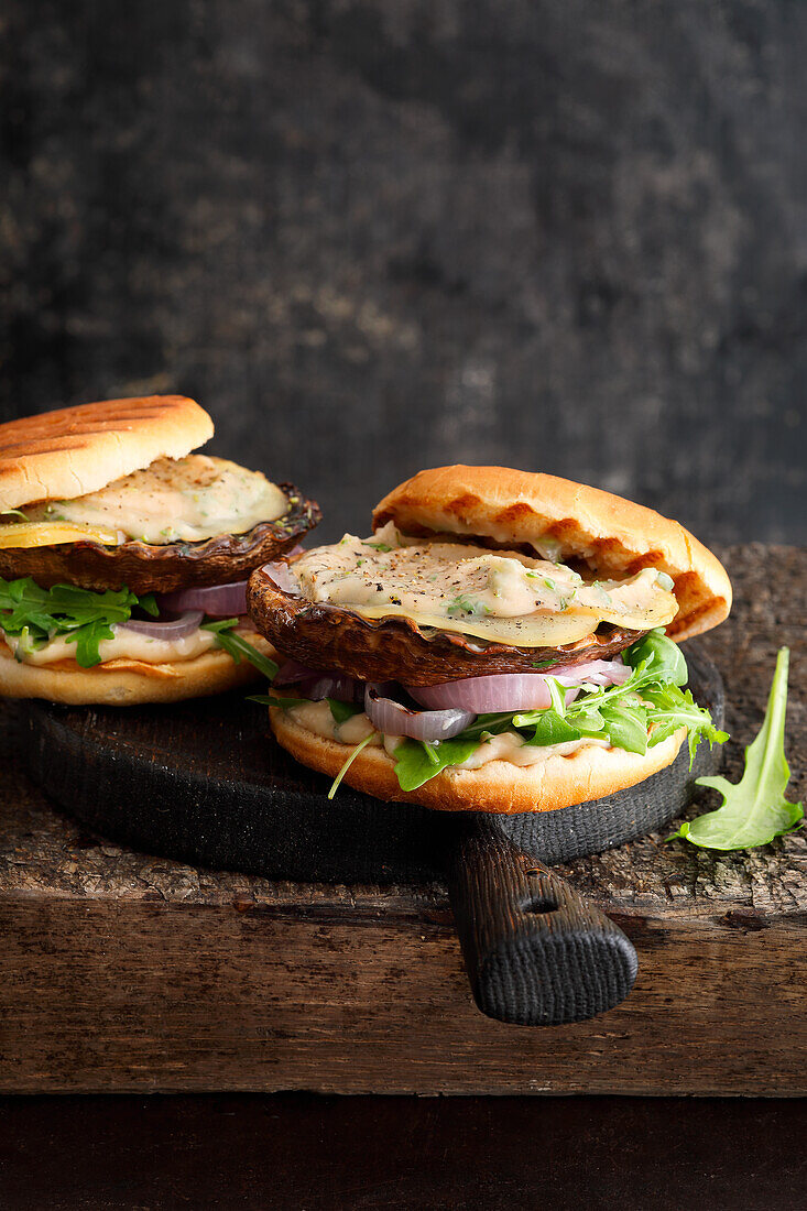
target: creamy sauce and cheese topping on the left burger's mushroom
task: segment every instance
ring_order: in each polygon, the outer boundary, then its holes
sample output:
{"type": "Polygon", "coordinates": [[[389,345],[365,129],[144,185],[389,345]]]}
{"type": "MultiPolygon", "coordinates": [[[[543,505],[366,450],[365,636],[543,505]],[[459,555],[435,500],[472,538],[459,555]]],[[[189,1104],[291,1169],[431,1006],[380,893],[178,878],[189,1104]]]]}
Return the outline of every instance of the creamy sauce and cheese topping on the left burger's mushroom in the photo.
{"type": "Polygon", "coordinates": [[[0,545],[51,546],[99,533],[111,535],[109,540],[96,539],[104,545],[130,539],[154,545],[199,543],[219,534],[244,534],[259,522],[276,521],[287,509],[284,493],[259,471],[207,454],[189,454],[158,459],[75,500],[27,506],[28,522],[11,520],[0,526],[0,545]],[[73,536],[64,536],[70,527],[73,536]],[[53,538],[56,533],[59,536],[53,538]],[[35,541],[38,535],[41,538],[35,541]]]}

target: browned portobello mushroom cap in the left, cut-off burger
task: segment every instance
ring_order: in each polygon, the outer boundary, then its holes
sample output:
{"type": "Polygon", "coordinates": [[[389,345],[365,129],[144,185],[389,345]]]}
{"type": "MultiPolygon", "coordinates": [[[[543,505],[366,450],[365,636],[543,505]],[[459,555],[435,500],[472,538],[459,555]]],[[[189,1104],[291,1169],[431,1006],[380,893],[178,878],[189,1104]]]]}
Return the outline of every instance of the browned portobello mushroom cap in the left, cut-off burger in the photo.
{"type": "Polygon", "coordinates": [[[258,522],[246,534],[218,534],[201,543],[63,543],[58,546],[0,549],[0,576],[32,576],[42,589],[70,584],[80,589],[121,589],[168,593],[178,589],[244,580],[253,568],[275,559],[321,521],[320,506],[293,483],[279,484],[288,509],[274,522],[258,522]]]}

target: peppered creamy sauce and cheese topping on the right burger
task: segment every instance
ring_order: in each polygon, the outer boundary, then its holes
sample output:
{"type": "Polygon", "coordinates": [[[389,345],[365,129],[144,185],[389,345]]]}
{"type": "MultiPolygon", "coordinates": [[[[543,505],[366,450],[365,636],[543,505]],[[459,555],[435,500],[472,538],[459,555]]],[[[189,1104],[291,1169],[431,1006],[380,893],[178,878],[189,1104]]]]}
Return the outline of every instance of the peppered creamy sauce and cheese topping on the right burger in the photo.
{"type": "Polygon", "coordinates": [[[407,618],[527,648],[572,643],[600,622],[665,626],[679,608],[671,581],[653,568],[622,581],[586,581],[515,551],[406,539],[393,523],[370,539],[345,535],[303,555],[293,574],[304,597],[366,619],[407,618]]]}

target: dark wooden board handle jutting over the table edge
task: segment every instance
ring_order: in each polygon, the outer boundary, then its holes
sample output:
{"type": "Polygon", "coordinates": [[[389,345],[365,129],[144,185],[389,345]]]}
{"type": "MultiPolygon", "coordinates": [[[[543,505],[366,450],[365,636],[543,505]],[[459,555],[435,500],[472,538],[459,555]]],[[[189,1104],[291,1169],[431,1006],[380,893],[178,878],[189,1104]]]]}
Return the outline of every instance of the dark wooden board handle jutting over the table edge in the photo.
{"type": "Polygon", "coordinates": [[[629,939],[500,833],[469,826],[447,869],[471,991],[488,1017],[560,1026],[628,995],[639,966],[629,939]]]}

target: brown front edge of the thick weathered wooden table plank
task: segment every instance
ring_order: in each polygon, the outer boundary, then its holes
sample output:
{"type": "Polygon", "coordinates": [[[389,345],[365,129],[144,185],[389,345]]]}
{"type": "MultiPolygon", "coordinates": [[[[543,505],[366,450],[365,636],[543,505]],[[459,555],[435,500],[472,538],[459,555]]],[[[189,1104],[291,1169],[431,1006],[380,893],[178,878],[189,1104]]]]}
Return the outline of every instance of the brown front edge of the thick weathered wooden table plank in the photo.
{"type": "Polygon", "coordinates": [[[624,917],[628,1000],[577,1026],[474,1009],[447,923],[6,902],[2,1087],[803,1094],[803,926],[624,917]]]}

